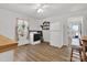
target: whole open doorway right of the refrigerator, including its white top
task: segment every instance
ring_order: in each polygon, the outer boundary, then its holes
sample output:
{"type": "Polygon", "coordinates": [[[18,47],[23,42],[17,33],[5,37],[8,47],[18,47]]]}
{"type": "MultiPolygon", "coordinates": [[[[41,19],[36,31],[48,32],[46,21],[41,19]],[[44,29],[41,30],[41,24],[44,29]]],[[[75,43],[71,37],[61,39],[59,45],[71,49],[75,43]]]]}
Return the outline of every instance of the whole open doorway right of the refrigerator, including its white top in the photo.
{"type": "Polygon", "coordinates": [[[68,21],[68,45],[79,45],[79,39],[81,36],[81,20],[69,19],[68,21]]]}

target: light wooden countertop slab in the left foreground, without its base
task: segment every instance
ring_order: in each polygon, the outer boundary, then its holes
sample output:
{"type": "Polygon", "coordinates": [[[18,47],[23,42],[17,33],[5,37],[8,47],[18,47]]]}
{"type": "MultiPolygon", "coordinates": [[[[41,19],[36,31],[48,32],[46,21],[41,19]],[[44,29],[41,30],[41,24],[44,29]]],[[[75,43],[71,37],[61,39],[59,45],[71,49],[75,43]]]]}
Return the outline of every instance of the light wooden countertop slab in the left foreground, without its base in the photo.
{"type": "Polygon", "coordinates": [[[18,46],[15,41],[8,39],[7,36],[0,35],[0,53],[13,50],[18,46]]]}

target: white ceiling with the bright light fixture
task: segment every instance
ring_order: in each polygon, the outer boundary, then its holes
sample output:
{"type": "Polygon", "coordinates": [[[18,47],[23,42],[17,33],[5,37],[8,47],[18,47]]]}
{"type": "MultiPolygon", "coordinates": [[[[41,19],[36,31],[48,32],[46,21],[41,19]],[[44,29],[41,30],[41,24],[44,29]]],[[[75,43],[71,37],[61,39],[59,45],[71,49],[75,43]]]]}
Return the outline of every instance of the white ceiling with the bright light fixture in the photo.
{"type": "Polygon", "coordinates": [[[86,3],[0,3],[0,9],[26,14],[35,19],[44,19],[54,15],[61,15],[68,12],[86,10],[86,3]],[[37,9],[43,12],[37,13],[37,9]]]}

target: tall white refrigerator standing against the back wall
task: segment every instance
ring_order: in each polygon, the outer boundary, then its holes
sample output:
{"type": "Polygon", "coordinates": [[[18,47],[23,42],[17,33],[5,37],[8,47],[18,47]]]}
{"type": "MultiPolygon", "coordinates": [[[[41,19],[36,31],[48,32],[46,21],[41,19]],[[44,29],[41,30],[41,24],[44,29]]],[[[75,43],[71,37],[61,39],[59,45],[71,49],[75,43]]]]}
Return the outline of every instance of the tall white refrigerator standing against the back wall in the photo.
{"type": "Polygon", "coordinates": [[[50,25],[50,44],[52,46],[63,46],[63,25],[61,22],[53,22],[50,25]]]}

